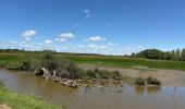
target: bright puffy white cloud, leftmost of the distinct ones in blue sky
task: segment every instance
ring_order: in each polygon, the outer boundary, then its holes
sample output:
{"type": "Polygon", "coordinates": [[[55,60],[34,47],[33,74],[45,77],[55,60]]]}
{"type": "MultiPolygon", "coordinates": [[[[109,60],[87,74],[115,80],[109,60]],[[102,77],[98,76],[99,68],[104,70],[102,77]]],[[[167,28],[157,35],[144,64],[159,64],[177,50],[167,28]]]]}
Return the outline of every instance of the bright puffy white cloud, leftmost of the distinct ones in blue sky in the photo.
{"type": "Polygon", "coordinates": [[[37,34],[36,31],[29,29],[29,31],[24,32],[24,33],[22,34],[22,37],[24,37],[25,40],[30,40],[30,37],[32,37],[32,36],[35,36],[36,34],[37,34]]]}

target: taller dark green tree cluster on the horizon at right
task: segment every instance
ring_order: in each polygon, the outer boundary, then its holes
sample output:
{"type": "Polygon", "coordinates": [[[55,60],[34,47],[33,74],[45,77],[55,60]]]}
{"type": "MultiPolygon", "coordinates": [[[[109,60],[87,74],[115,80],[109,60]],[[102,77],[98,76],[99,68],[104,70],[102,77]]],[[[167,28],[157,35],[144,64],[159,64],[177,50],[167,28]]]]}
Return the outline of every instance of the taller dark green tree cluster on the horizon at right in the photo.
{"type": "Polygon", "coordinates": [[[159,49],[146,49],[137,53],[132,53],[130,57],[157,60],[185,61],[185,49],[176,49],[171,51],[161,51],[159,49]]]}

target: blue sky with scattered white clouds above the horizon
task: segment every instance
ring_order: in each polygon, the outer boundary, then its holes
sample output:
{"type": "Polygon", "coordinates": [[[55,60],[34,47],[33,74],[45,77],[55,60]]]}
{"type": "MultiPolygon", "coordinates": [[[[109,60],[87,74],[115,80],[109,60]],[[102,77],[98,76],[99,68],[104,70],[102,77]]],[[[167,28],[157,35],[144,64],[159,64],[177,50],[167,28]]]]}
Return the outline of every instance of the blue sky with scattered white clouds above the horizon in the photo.
{"type": "Polygon", "coordinates": [[[185,0],[0,0],[0,49],[131,55],[184,40],[185,0]]]}

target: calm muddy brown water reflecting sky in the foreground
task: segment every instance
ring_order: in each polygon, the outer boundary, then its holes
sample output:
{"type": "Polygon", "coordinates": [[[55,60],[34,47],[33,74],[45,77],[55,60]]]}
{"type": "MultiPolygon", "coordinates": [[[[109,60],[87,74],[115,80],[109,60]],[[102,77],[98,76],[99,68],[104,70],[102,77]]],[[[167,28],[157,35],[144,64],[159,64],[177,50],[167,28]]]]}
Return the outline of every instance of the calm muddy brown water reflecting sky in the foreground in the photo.
{"type": "Polygon", "coordinates": [[[73,89],[41,77],[0,69],[8,88],[42,97],[67,109],[185,109],[185,87],[73,89]]]}

